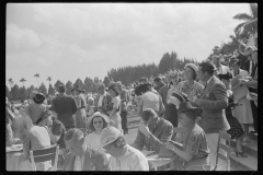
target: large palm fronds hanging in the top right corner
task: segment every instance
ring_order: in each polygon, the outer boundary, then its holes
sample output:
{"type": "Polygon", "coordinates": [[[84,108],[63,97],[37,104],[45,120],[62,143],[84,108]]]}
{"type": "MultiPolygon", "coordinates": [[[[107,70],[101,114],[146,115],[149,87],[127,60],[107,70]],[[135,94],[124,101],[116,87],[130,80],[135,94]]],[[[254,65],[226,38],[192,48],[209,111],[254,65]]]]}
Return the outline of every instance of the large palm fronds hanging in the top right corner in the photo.
{"type": "Polygon", "coordinates": [[[238,13],[233,16],[235,20],[241,20],[244,21],[241,24],[239,24],[238,26],[236,26],[236,28],[233,30],[235,33],[239,36],[239,33],[242,28],[242,26],[248,23],[251,22],[255,19],[258,19],[258,3],[250,3],[250,14],[247,13],[238,13]]]}

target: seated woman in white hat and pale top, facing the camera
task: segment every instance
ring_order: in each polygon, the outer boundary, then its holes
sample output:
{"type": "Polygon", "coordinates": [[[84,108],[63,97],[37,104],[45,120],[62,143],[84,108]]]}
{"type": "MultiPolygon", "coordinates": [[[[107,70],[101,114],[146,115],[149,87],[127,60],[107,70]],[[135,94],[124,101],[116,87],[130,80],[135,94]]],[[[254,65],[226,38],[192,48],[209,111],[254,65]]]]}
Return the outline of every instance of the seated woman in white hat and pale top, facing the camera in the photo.
{"type": "Polygon", "coordinates": [[[108,126],[108,117],[96,112],[89,118],[88,124],[92,132],[85,137],[84,143],[89,148],[98,150],[101,148],[101,131],[108,126]]]}

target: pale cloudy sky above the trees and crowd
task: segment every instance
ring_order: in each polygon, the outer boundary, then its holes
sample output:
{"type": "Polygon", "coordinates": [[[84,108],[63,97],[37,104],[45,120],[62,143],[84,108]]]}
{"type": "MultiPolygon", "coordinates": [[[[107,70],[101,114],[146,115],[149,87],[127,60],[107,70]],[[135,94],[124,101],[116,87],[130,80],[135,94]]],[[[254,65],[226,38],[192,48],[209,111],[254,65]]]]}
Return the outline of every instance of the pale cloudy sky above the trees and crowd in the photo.
{"type": "MultiPolygon", "coordinates": [[[[165,52],[206,59],[229,42],[248,3],[8,3],[5,84],[104,79],[112,68],[159,65],[165,52]]],[[[48,88],[48,86],[47,86],[48,88]]]]}

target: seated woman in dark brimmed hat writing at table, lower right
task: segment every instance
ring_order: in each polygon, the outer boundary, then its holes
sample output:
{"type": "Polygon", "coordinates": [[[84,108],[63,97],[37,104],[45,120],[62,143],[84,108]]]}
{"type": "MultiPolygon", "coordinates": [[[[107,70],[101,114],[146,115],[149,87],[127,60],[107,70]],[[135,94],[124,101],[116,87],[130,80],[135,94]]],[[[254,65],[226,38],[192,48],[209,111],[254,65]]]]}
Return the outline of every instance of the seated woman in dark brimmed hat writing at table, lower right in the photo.
{"type": "Polygon", "coordinates": [[[202,114],[202,109],[193,107],[190,102],[183,102],[179,105],[179,121],[184,128],[187,128],[186,139],[183,142],[182,150],[173,143],[168,142],[167,149],[175,153],[174,170],[186,171],[193,165],[208,164],[209,149],[204,130],[196,124],[196,118],[202,114]]]}

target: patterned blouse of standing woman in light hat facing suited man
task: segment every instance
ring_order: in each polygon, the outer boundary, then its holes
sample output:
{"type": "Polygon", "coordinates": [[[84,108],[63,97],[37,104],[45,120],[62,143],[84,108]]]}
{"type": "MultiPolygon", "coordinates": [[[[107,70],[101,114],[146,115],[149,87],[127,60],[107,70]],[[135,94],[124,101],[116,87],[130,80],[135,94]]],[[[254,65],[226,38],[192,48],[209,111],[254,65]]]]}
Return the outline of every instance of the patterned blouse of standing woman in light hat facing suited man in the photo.
{"type": "Polygon", "coordinates": [[[178,90],[180,93],[185,93],[187,95],[188,101],[194,101],[195,96],[198,98],[204,90],[204,85],[194,81],[194,84],[188,88],[185,83],[186,81],[182,81],[178,84],[178,90]]]}

